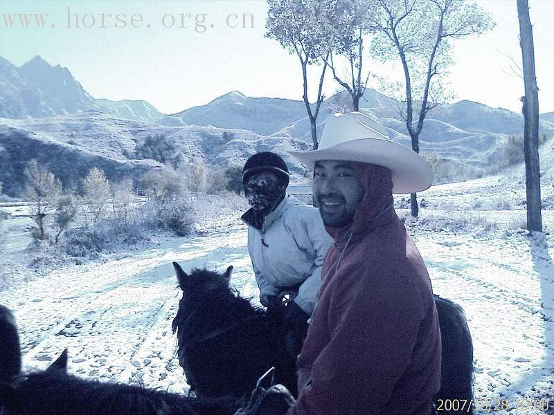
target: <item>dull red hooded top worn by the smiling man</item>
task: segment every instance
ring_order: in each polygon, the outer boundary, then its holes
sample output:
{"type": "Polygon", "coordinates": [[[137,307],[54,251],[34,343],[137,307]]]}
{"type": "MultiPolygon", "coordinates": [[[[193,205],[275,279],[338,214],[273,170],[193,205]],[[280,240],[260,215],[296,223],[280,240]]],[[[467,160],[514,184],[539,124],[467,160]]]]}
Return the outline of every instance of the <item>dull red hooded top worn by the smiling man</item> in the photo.
{"type": "Polygon", "coordinates": [[[288,415],[429,415],[440,329],[427,268],[396,216],[391,172],[355,163],[366,192],[335,243],[298,357],[288,415]]]}

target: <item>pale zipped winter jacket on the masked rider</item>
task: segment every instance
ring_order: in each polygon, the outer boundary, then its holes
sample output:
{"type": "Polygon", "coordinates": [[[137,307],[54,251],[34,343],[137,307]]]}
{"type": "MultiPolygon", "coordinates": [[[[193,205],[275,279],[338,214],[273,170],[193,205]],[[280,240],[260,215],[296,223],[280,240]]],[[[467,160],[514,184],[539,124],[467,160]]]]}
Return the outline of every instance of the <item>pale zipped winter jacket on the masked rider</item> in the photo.
{"type": "Polygon", "coordinates": [[[308,315],[314,311],[321,285],[321,266],[333,242],[319,210],[303,205],[294,196],[285,196],[267,214],[262,230],[251,219],[253,211],[242,215],[248,227],[248,252],[252,260],[260,299],[279,295],[281,288],[299,286],[294,301],[308,315]]]}

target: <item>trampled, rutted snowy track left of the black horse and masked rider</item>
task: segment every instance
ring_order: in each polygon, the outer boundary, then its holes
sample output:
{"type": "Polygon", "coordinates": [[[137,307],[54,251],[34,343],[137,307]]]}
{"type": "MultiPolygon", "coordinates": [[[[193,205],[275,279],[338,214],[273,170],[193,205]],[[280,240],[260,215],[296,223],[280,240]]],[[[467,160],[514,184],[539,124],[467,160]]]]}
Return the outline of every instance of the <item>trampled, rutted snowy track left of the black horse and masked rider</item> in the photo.
{"type": "Polygon", "coordinates": [[[6,292],[1,302],[15,311],[26,369],[46,367],[69,347],[73,373],[184,391],[171,331],[179,303],[171,261],[218,270],[230,261],[233,284],[253,292],[246,227],[216,228],[105,264],[55,270],[6,292]]]}

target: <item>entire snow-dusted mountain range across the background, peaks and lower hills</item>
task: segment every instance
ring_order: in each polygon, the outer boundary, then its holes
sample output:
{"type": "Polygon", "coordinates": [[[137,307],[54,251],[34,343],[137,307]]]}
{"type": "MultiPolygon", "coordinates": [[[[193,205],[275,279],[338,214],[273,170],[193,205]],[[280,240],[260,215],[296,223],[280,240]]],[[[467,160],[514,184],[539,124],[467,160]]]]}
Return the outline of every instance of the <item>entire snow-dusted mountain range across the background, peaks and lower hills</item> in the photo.
{"type": "MultiPolygon", "coordinates": [[[[319,133],[325,116],[348,101],[345,94],[323,102],[319,133]]],[[[367,89],[360,107],[386,127],[392,140],[411,146],[393,98],[367,89]]],[[[554,136],[554,113],[541,115],[541,130],[554,136]]],[[[420,147],[423,153],[436,151],[458,170],[479,175],[501,163],[503,143],[521,131],[521,114],[463,100],[429,112],[420,147]]],[[[75,185],[91,167],[104,169],[112,181],[138,178],[161,165],[135,160],[136,146],[147,136],[160,135],[171,138],[185,160],[200,157],[219,167],[242,165],[256,151],[277,151],[289,163],[293,181],[305,181],[307,169],[284,149],[312,145],[302,101],[232,91],[206,105],[164,115],[145,101],[92,98],[67,68],[40,57],[19,68],[0,57],[0,181],[7,194],[21,192],[30,158],[66,185],[75,185]]]]}

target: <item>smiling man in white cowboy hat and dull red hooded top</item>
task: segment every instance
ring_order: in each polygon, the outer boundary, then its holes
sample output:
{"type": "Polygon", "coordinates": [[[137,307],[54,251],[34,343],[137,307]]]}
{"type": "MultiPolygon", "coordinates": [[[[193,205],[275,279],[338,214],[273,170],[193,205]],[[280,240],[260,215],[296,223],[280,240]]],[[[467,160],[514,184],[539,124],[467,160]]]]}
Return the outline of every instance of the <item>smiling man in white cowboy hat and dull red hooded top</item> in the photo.
{"type": "Polygon", "coordinates": [[[359,112],[331,116],[319,149],[290,153],[314,169],[314,198],[334,245],[287,414],[429,415],[440,388],[438,315],[393,193],[426,190],[431,168],[359,112]]]}

